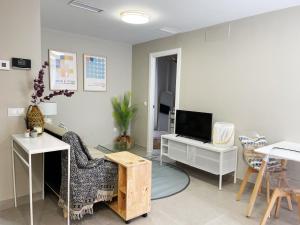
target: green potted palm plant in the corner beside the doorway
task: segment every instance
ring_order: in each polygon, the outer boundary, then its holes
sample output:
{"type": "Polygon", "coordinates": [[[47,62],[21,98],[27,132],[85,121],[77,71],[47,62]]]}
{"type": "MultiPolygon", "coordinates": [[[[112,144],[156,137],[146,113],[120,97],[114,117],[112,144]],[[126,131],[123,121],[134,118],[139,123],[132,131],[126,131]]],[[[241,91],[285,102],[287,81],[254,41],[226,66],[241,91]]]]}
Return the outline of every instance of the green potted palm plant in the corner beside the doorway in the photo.
{"type": "Polygon", "coordinates": [[[133,138],[128,134],[128,129],[134,118],[137,107],[131,105],[131,93],[127,92],[122,97],[112,98],[113,118],[119,130],[119,136],[115,139],[115,148],[120,150],[130,149],[134,145],[133,138]]]}

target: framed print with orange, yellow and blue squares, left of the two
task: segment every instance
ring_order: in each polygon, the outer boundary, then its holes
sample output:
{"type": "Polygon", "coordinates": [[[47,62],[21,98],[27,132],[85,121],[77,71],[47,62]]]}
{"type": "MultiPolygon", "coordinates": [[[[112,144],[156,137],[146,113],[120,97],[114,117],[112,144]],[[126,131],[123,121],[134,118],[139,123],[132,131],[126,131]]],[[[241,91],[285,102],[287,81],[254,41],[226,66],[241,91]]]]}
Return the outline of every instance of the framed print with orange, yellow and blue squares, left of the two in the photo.
{"type": "Polygon", "coordinates": [[[77,90],[76,53],[49,50],[50,90],[77,90]]]}

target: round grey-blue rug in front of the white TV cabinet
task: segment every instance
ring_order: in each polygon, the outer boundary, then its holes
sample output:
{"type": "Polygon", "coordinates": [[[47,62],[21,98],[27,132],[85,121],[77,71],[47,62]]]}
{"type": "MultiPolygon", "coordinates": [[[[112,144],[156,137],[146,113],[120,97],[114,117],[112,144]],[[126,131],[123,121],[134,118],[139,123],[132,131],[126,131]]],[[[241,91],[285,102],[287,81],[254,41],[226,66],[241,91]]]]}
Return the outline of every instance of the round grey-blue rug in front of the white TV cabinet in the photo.
{"type": "Polygon", "coordinates": [[[152,160],[151,199],[166,198],[186,189],[190,184],[189,175],[182,169],[169,163],[152,160]]]}

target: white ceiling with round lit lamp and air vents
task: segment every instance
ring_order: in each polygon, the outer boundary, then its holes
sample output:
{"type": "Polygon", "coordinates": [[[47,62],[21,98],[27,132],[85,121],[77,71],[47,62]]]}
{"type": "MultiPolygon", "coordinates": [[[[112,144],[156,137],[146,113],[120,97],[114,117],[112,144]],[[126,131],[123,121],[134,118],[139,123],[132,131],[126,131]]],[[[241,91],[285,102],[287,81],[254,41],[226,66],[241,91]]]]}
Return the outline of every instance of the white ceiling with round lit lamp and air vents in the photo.
{"type": "Polygon", "coordinates": [[[300,5],[300,0],[82,0],[103,9],[97,14],[69,6],[70,0],[41,0],[46,28],[136,44],[170,36],[160,28],[179,32],[300,5]],[[151,21],[126,24],[120,12],[142,10],[151,21]]]}

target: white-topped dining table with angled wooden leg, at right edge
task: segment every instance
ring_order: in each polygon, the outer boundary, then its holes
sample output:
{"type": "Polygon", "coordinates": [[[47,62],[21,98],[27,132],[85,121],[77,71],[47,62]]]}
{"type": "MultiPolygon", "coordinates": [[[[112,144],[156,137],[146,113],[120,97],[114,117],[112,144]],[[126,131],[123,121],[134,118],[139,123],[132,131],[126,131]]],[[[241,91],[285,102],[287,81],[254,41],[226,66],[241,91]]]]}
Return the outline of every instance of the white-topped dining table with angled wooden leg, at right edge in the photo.
{"type": "MultiPolygon", "coordinates": [[[[247,208],[247,216],[250,217],[253,211],[256,197],[262,183],[263,175],[265,173],[267,162],[269,158],[276,158],[281,160],[291,160],[300,163],[300,144],[289,141],[281,141],[271,145],[267,145],[254,150],[257,153],[264,154],[265,157],[262,161],[259,173],[256,178],[254,189],[252,191],[250,201],[247,208]]],[[[298,205],[300,202],[298,201],[298,205]]]]}

